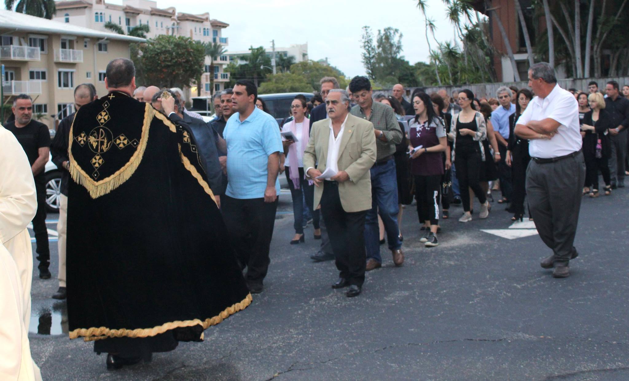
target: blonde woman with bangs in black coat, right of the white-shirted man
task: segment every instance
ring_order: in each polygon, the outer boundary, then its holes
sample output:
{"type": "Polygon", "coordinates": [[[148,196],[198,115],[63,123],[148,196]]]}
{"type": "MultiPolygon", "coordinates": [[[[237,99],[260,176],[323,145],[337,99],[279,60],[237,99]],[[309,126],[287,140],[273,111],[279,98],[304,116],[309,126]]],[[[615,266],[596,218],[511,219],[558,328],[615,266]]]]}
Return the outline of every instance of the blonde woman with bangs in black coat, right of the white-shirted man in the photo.
{"type": "Polygon", "coordinates": [[[610,114],[605,111],[605,101],[601,93],[587,96],[591,110],[583,117],[581,134],[583,135],[583,157],[586,161],[586,186],[590,187],[590,197],[598,197],[598,171],[603,174],[605,195],[611,195],[610,167],[607,162],[611,156],[608,129],[611,125],[610,114]]]}

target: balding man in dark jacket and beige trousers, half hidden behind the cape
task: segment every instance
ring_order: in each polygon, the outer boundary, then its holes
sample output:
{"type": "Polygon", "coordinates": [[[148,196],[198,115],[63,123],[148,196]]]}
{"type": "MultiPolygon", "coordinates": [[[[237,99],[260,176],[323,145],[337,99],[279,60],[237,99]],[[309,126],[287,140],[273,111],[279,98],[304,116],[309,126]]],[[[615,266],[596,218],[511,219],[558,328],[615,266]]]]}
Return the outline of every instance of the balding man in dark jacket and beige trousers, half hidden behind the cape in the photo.
{"type": "Polygon", "coordinates": [[[61,195],[59,197],[59,220],[57,222],[57,232],[59,234],[57,240],[57,253],[59,256],[59,271],[57,278],[59,280],[59,288],[52,295],[53,299],[64,300],[65,291],[65,241],[67,237],[66,222],[68,211],[68,181],[69,181],[69,164],[68,157],[68,139],[70,137],[70,126],[74,121],[74,115],[81,106],[87,105],[91,101],[97,99],[94,89],[89,84],[80,84],[74,89],[74,113],[65,117],[57,127],[55,139],[50,144],[50,154],[52,154],[52,162],[62,172],[61,175],[61,195]]]}

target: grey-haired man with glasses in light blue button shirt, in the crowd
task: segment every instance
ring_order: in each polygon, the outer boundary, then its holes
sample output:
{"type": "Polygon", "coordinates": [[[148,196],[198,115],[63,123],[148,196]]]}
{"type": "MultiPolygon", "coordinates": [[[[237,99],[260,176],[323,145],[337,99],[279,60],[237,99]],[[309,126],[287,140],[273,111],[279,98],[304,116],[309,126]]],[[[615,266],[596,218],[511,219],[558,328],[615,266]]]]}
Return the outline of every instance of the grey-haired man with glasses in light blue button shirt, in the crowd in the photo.
{"type": "Polygon", "coordinates": [[[498,164],[498,176],[500,179],[500,190],[503,193],[499,203],[511,202],[511,168],[506,164],[507,145],[509,141],[509,116],[515,113],[515,104],[511,103],[511,89],[501,86],[496,91],[496,97],[500,106],[491,113],[491,123],[494,130],[498,131],[498,150],[500,151],[500,163],[498,164]]]}

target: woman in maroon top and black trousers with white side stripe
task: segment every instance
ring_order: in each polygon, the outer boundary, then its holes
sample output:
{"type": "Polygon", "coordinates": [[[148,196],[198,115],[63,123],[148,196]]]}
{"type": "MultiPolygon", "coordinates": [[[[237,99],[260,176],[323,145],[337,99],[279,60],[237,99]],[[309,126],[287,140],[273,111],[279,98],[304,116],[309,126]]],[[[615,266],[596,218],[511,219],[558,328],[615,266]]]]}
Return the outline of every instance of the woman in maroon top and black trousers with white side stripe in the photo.
{"type": "Polygon", "coordinates": [[[425,246],[437,246],[439,224],[439,199],[441,177],[443,175],[442,152],[446,150],[447,139],[442,118],[435,114],[430,96],[415,91],[411,97],[415,118],[409,120],[409,152],[411,173],[415,178],[415,198],[420,224],[430,226],[426,236],[420,239],[425,246]],[[420,147],[421,146],[421,147],[420,147]]]}

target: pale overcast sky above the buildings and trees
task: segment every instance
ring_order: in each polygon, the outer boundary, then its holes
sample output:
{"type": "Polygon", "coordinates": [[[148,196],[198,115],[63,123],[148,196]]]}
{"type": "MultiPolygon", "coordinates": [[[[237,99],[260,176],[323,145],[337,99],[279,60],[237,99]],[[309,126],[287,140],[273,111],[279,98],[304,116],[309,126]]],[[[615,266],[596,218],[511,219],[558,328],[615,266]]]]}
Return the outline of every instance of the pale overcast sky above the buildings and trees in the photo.
{"type": "MultiPolygon", "coordinates": [[[[110,0],[122,4],[122,0],[110,0]]],[[[325,59],[348,77],[365,74],[360,62],[362,26],[369,25],[374,36],[387,26],[403,33],[403,55],[411,64],[427,61],[425,25],[416,0],[239,0],[211,1],[158,0],[159,8],[174,6],[179,12],[209,12],[210,18],[230,24],[223,30],[229,37],[228,50],[253,47],[288,47],[308,42],[312,60],[325,59]],[[201,6],[201,4],[207,4],[201,6]]],[[[446,18],[442,0],[428,0],[428,16],[435,20],[438,40],[454,39],[454,30],[446,18]]],[[[431,46],[436,43],[431,40],[431,46]]]]}

